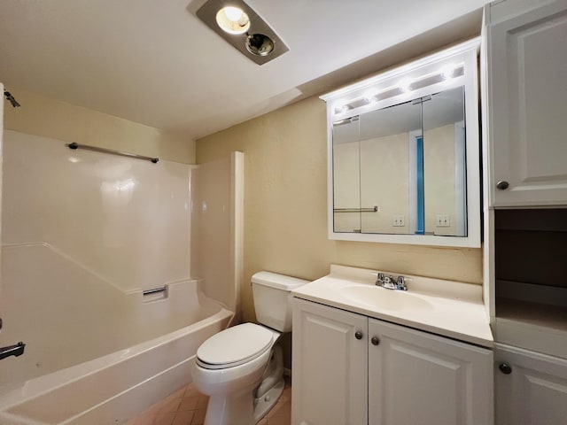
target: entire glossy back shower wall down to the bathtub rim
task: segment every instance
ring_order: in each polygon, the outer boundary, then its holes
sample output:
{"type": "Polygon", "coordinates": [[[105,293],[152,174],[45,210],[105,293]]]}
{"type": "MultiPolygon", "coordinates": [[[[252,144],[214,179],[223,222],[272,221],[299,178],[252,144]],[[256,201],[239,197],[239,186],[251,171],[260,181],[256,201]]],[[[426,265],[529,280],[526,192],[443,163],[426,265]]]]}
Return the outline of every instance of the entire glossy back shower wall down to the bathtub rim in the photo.
{"type": "Polygon", "coordinates": [[[190,167],[4,132],[0,345],[27,346],[0,364],[0,387],[202,319],[190,167]]]}

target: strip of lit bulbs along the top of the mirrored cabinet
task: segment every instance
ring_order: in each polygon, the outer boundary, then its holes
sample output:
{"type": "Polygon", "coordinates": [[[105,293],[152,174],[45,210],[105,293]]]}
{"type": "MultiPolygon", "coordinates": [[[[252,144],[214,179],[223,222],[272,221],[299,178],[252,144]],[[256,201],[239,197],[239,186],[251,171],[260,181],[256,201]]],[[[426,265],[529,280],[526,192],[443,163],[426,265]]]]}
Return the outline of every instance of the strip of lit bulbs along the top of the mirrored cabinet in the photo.
{"type": "Polygon", "coordinates": [[[440,82],[461,77],[462,75],[464,75],[464,64],[449,66],[446,69],[440,70],[436,73],[423,75],[421,78],[416,80],[400,81],[400,86],[388,87],[384,90],[378,91],[374,95],[356,97],[352,100],[349,100],[348,102],[338,102],[337,106],[335,106],[334,108],[334,112],[335,115],[337,115],[338,113],[357,109],[361,106],[366,106],[367,104],[372,104],[380,100],[388,99],[390,97],[400,96],[403,93],[407,93],[416,89],[422,89],[423,87],[428,87],[433,84],[439,84],[440,82]]]}

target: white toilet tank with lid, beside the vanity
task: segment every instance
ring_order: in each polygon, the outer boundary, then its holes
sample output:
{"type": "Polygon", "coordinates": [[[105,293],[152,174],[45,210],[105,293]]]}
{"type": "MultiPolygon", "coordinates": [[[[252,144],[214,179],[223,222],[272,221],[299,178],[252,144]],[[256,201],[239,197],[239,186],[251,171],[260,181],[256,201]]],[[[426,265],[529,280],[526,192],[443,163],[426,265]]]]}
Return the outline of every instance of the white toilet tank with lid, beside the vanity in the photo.
{"type": "Polygon", "coordinates": [[[252,296],[256,319],[260,323],[291,332],[291,290],[309,281],[271,272],[252,275],[252,296]]]}

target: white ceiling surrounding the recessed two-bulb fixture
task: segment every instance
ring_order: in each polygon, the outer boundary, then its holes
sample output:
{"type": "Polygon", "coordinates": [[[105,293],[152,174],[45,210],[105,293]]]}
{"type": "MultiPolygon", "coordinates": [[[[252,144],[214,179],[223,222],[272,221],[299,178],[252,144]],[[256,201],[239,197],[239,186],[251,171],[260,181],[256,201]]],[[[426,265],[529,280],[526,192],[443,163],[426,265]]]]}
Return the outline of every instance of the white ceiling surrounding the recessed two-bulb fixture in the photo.
{"type": "Polygon", "coordinates": [[[197,140],[478,35],[485,0],[247,0],[290,49],[262,66],[203,3],[2,0],[0,81],[197,140]]]}

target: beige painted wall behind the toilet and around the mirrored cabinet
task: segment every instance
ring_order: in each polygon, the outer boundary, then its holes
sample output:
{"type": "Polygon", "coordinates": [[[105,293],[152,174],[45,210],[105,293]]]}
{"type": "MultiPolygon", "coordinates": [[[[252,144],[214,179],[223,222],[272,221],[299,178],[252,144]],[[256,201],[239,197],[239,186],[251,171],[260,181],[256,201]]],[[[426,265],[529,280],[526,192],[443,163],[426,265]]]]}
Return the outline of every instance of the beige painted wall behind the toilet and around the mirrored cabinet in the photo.
{"type": "Polygon", "coordinates": [[[325,120],[310,97],[197,142],[198,163],[245,152],[244,319],[254,317],[247,282],[260,270],[313,280],[336,263],[481,283],[480,249],[327,238],[325,120]]]}

